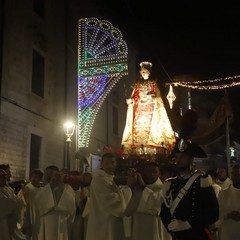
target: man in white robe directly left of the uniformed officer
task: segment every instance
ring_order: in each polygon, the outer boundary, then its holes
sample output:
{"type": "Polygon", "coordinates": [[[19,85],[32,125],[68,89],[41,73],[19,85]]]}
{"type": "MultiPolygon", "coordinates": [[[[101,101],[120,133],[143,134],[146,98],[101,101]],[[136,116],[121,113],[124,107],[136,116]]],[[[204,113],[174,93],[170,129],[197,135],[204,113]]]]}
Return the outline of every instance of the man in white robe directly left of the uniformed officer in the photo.
{"type": "Polygon", "coordinates": [[[155,162],[145,162],[138,171],[142,177],[139,183],[144,187],[139,188],[138,192],[137,189],[134,190],[131,203],[133,205],[131,239],[171,240],[171,235],[160,219],[163,183],[160,180],[159,166],[155,162]]]}

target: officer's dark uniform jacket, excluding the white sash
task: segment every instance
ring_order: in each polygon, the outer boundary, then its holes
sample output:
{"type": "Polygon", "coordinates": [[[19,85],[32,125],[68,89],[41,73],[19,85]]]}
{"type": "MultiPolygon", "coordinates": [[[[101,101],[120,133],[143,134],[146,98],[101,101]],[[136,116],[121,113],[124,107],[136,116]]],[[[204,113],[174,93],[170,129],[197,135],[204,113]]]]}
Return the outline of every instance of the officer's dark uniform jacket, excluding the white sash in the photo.
{"type": "Polygon", "coordinates": [[[172,233],[174,240],[209,240],[211,238],[208,235],[208,227],[218,220],[218,201],[211,186],[211,179],[204,173],[196,178],[171,215],[170,199],[174,200],[178,196],[181,188],[193,174],[196,172],[184,178],[178,176],[168,179],[164,183],[165,202],[162,204],[160,213],[163,224],[167,228],[171,220],[175,218],[188,221],[192,227],[189,230],[172,233]]]}

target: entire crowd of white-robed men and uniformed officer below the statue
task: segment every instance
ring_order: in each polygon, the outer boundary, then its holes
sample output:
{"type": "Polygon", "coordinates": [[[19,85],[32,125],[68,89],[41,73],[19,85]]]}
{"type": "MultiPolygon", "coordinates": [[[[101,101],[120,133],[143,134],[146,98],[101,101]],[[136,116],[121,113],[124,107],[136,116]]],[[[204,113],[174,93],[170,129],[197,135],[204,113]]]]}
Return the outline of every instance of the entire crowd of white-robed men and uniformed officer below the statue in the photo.
{"type": "Polygon", "coordinates": [[[194,143],[174,165],[142,161],[123,177],[113,153],[92,173],[34,169],[17,192],[9,165],[0,165],[1,240],[237,240],[240,239],[240,166],[202,172],[194,143]]]}

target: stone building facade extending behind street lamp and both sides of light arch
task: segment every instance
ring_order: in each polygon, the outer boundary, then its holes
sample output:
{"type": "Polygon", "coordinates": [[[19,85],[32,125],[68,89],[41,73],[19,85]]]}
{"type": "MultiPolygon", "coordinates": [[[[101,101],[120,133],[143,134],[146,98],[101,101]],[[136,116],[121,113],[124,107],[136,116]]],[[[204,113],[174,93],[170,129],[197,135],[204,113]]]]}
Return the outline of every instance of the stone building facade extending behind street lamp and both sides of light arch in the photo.
{"type": "MultiPolygon", "coordinates": [[[[33,168],[64,167],[63,125],[78,120],[78,19],[106,17],[94,11],[91,1],[76,0],[2,0],[0,11],[0,164],[10,164],[12,180],[20,180],[33,168]]],[[[133,48],[129,55],[129,75],[98,112],[88,155],[121,146],[125,99],[138,68],[133,48]]],[[[72,140],[71,168],[78,169],[75,136],[72,140]]]]}

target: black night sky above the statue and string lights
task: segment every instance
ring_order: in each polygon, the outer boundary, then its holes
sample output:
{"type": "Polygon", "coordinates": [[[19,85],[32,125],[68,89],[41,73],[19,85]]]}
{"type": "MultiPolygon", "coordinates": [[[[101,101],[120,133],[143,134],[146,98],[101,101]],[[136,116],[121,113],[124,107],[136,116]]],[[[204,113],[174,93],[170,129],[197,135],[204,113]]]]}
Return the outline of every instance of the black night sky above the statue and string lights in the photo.
{"type": "MultiPolygon", "coordinates": [[[[127,36],[126,42],[130,38],[140,47],[140,59],[158,62],[165,82],[180,75],[202,80],[240,75],[237,5],[226,1],[94,1],[107,20],[127,36]]],[[[228,93],[234,112],[231,135],[240,142],[240,87],[229,88],[228,93]]],[[[223,90],[200,93],[204,94],[219,98],[223,90]]]]}

